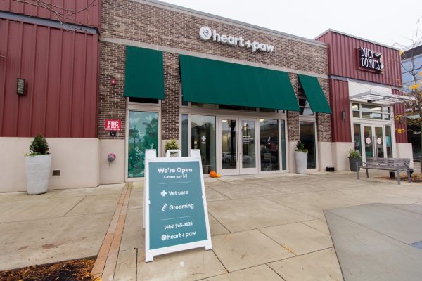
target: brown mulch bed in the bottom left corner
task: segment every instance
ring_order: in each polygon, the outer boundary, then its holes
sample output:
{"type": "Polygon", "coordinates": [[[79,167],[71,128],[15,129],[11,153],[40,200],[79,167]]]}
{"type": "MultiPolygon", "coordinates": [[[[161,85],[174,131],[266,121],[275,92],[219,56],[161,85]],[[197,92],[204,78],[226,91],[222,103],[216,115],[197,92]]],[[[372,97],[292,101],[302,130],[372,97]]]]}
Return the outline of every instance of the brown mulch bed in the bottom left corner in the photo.
{"type": "Polygon", "coordinates": [[[101,280],[91,275],[95,259],[75,259],[41,266],[0,271],[0,280],[10,281],[79,281],[101,280]]]}

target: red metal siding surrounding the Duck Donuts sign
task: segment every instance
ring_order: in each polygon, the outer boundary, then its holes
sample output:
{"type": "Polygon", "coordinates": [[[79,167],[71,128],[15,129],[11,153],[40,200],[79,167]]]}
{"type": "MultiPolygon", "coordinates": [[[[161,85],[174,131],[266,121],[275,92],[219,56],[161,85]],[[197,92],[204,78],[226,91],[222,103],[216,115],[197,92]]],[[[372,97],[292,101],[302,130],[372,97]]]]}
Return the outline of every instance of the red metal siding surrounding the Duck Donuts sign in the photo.
{"type": "Polygon", "coordinates": [[[327,32],[317,40],[325,42],[328,46],[330,75],[391,86],[402,86],[399,51],[332,31],[327,32]],[[357,54],[359,47],[371,48],[383,54],[384,72],[382,74],[359,69],[357,54]]]}

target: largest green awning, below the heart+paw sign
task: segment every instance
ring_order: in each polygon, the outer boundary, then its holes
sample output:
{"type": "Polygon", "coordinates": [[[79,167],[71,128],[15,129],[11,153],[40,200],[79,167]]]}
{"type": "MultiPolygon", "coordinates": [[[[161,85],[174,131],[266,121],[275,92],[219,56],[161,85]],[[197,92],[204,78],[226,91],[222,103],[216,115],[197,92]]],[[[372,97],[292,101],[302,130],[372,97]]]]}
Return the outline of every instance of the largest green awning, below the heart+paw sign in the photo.
{"type": "Polygon", "coordinates": [[[183,100],[299,111],[286,72],[180,55],[183,100]]]}

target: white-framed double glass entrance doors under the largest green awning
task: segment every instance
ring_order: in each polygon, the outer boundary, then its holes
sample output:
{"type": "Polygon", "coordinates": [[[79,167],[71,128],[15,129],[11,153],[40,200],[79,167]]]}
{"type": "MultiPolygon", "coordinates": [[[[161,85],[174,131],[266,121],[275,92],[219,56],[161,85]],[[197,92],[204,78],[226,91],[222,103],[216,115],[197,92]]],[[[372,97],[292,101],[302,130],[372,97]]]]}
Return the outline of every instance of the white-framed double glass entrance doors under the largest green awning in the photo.
{"type": "Polygon", "coordinates": [[[220,117],[221,173],[258,174],[255,119],[220,117]]]}

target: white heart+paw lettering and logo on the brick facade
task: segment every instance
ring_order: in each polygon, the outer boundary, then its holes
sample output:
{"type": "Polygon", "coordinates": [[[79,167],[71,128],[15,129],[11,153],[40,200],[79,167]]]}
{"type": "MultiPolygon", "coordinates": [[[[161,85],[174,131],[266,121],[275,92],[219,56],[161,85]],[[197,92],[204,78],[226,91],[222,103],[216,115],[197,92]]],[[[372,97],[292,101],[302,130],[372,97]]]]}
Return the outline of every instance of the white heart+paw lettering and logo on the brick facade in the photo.
{"type": "Polygon", "coordinates": [[[257,51],[261,51],[265,53],[274,52],[273,45],[260,43],[257,41],[245,40],[241,36],[234,37],[231,35],[219,34],[217,30],[211,31],[210,27],[200,27],[200,30],[199,30],[200,39],[202,39],[203,41],[207,41],[207,40],[210,40],[211,37],[212,37],[212,41],[215,41],[221,44],[226,44],[230,46],[239,46],[239,47],[244,47],[244,48],[252,48],[252,53],[255,53],[257,51]]]}

